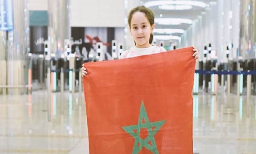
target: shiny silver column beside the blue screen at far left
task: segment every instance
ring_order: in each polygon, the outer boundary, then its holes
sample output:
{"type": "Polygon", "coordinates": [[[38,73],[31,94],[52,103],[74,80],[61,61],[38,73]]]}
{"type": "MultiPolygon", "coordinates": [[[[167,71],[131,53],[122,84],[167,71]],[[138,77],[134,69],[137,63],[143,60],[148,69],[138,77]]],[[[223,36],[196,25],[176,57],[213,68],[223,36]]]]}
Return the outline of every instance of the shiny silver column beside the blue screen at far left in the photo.
{"type": "MultiPolygon", "coordinates": [[[[7,85],[28,84],[29,12],[28,0],[13,0],[14,29],[8,31],[7,85]]],[[[24,94],[25,88],[9,88],[9,94],[24,94]]]]}

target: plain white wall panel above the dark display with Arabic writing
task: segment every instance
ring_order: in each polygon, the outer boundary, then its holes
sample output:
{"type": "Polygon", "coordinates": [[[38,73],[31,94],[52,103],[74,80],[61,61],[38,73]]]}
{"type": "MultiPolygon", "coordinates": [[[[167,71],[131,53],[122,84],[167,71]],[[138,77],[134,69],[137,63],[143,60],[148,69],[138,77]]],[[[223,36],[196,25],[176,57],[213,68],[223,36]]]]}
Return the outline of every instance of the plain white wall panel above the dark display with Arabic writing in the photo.
{"type": "Polygon", "coordinates": [[[123,0],[71,0],[72,27],[124,27],[123,0]]]}

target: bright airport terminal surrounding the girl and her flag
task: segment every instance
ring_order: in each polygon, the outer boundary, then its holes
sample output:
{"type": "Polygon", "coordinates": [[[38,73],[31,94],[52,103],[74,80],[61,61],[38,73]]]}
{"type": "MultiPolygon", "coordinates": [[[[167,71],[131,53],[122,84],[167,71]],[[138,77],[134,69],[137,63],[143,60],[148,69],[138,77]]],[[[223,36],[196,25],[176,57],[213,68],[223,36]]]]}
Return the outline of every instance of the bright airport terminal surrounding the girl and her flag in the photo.
{"type": "Polygon", "coordinates": [[[135,45],[141,5],[153,45],[199,52],[193,154],[256,154],[256,0],[0,0],[1,154],[94,153],[81,67],[135,45]]]}

